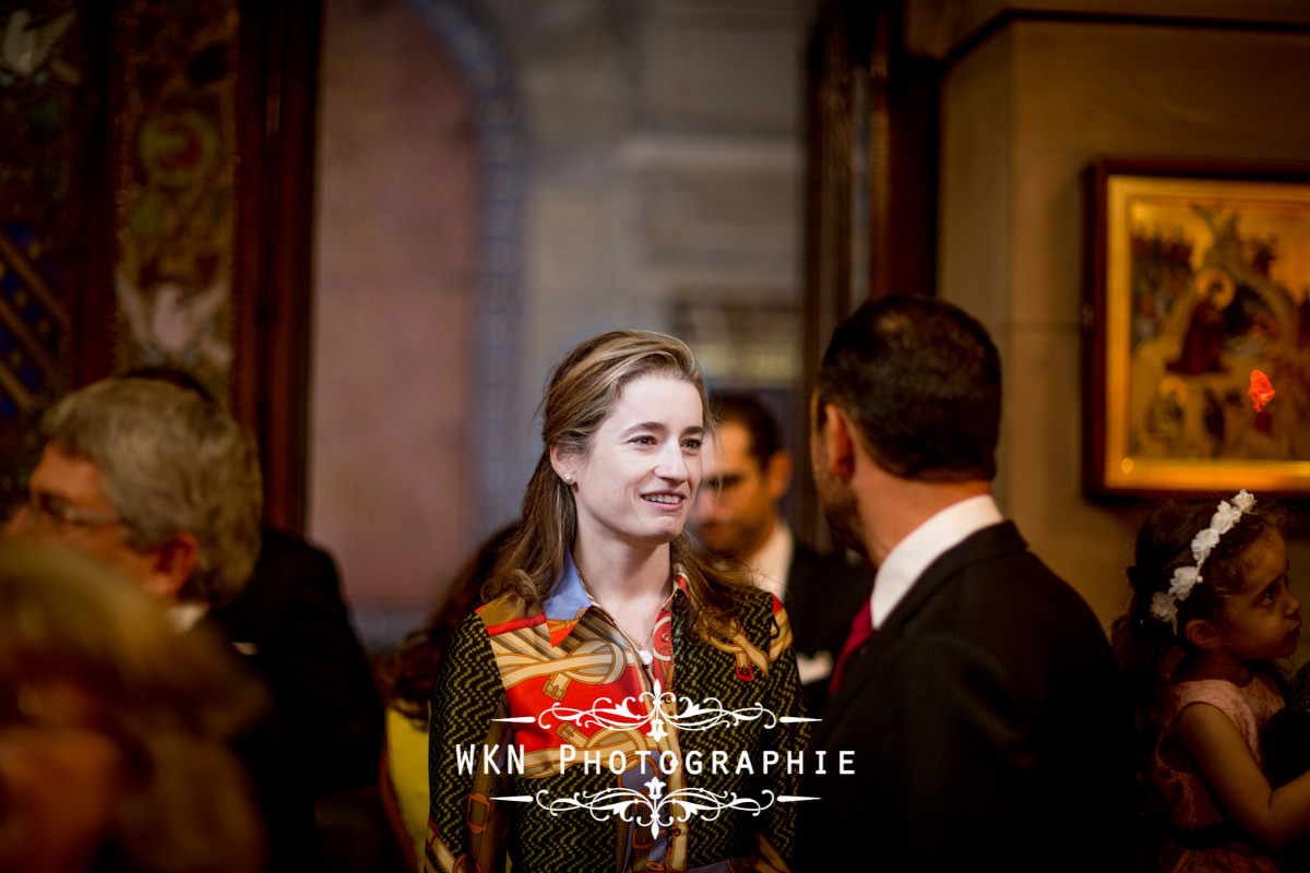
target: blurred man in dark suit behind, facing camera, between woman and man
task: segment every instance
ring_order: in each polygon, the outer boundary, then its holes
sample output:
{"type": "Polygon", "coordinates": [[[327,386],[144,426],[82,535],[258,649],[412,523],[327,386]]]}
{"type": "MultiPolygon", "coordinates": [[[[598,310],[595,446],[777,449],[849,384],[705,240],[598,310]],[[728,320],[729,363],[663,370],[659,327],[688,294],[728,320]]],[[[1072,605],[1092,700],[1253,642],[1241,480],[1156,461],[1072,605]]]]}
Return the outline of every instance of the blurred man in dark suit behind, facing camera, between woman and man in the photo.
{"type": "Polygon", "coordinates": [[[756,584],[786,606],[806,707],[817,713],[872,573],[796,542],[778,510],[791,484],[791,454],[769,410],[745,394],[717,394],[710,407],[718,429],[701,452],[692,527],[706,548],[743,561],[756,584]]]}

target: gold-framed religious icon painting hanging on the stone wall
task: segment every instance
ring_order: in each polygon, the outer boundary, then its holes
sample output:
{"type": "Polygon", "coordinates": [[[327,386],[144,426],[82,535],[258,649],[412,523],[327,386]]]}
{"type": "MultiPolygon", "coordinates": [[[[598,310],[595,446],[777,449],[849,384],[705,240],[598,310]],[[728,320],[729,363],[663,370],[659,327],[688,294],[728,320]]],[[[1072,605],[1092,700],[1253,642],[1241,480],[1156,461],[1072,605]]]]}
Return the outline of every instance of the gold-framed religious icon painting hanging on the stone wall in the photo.
{"type": "Polygon", "coordinates": [[[1090,493],[1310,493],[1310,166],[1087,173],[1090,493]]]}

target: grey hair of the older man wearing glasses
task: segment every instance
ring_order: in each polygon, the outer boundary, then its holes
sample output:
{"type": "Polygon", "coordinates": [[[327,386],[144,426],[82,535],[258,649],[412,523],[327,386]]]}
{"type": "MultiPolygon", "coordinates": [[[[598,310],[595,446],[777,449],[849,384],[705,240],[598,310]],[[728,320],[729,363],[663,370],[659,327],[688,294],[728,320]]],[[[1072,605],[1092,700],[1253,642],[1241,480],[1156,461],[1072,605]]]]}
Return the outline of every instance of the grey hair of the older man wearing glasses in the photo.
{"type": "Polygon", "coordinates": [[[259,552],[259,458],[217,403],[160,380],[107,378],[52,406],[41,438],[100,469],[132,548],[195,537],[182,599],[221,606],[245,585],[259,552]]]}

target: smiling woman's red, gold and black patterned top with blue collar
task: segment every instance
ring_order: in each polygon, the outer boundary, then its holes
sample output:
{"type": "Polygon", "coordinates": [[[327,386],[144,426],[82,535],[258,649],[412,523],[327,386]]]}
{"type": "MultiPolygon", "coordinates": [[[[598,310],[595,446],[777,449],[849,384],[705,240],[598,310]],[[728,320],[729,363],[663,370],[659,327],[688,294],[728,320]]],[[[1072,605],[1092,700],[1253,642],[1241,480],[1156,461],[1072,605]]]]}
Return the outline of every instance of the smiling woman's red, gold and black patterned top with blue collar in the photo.
{"type": "Polygon", "coordinates": [[[786,613],[752,590],[694,643],[675,582],[648,668],[571,561],[540,611],[507,596],[460,624],[432,700],[428,870],[786,869],[779,798],[807,738],[786,613]]]}

